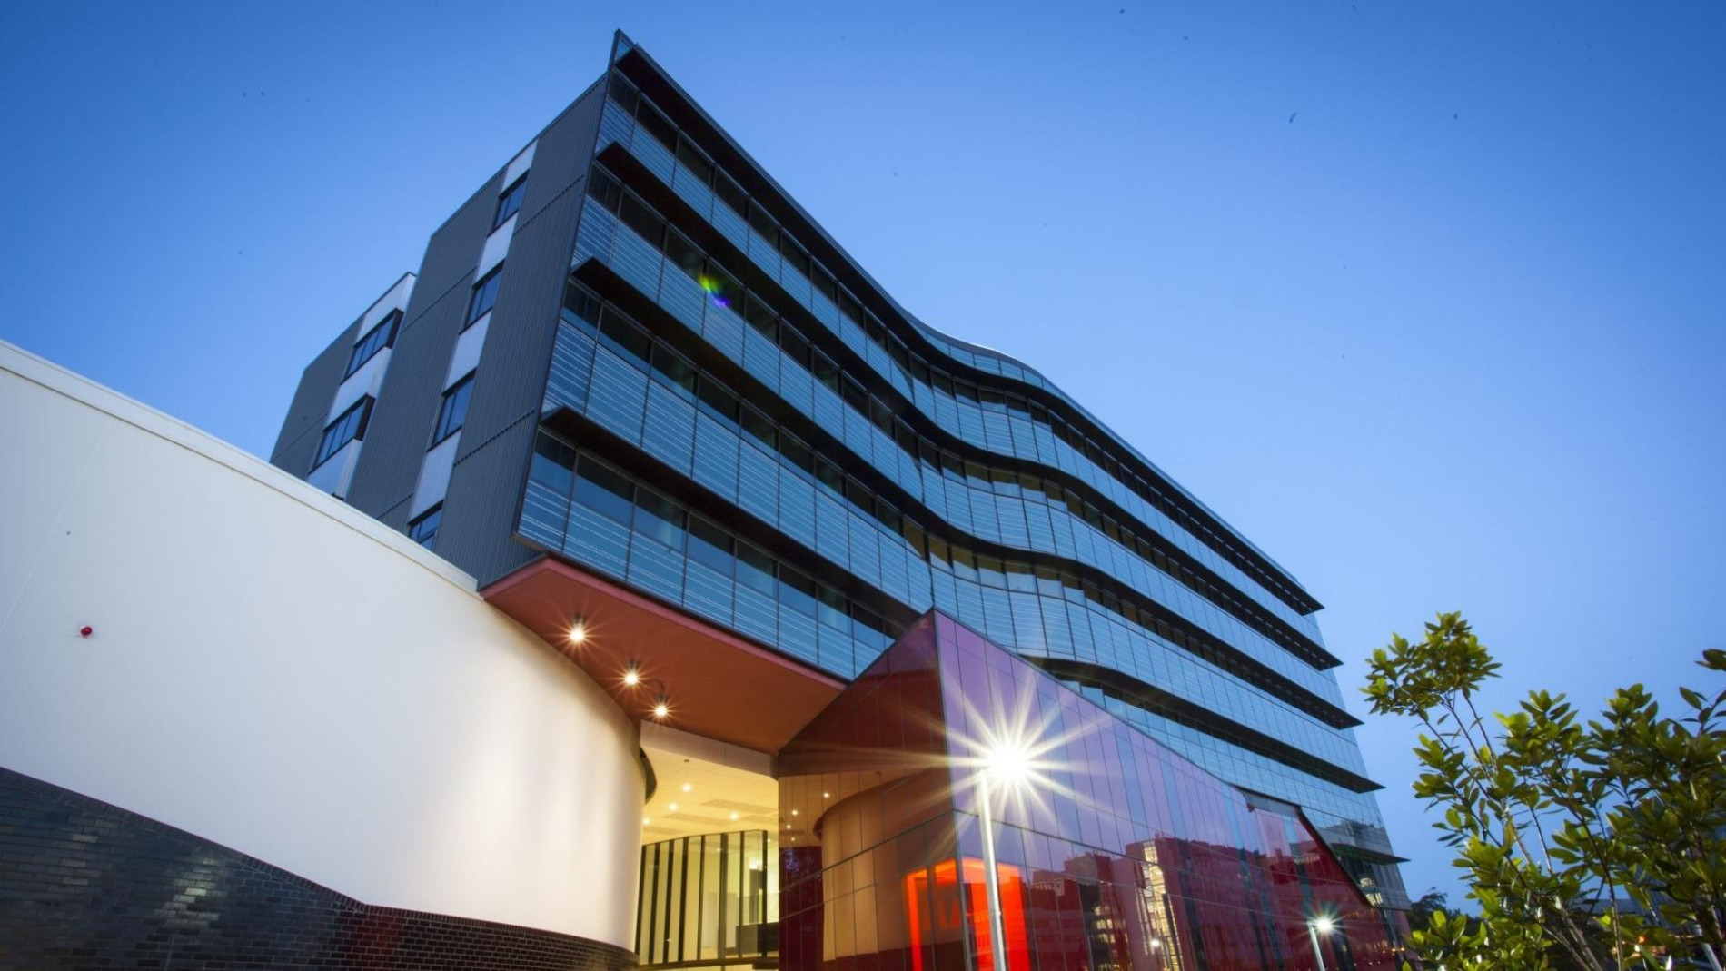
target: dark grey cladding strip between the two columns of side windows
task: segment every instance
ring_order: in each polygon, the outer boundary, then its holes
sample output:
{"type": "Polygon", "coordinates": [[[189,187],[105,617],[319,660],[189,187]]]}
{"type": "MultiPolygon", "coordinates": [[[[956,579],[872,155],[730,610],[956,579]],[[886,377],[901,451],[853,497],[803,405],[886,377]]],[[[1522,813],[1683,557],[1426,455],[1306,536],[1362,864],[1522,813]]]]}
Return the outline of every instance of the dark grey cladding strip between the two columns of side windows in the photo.
{"type": "Polygon", "coordinates": [[[359,454],[347,502],[368,516],[381,516],[414,492],[419,460],[432,443],[444,376],[456,350],[468,290],[459,288],[430,305],[419,305],[414,290],[413,326],[404,326],[383,374],[378,404],[371,409],[366,448],[359,454]]]}

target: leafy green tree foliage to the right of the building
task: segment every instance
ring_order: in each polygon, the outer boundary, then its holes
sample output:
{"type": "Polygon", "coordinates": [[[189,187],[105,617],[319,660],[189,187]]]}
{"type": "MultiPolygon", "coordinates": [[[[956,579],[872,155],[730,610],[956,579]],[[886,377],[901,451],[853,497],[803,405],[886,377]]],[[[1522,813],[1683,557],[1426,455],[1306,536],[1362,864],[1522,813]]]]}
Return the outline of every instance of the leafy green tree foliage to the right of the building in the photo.
{"type": "MultiPolygon", "coordinates": [[[[1412,935],[1431,966],[1605,971],[1726,954],[1726,690],[1679,688],[1686,709],[1667,717],[1633,685],[1591,721],[1531,692],[1488,721],[1476,697],[1498,662],[1462,614],[1439,614],[1420,642],[1393,635],[1370,664],[1372,711],[1424,728],[1414,792],[1443,814],[1434,826],[1481,909],[1431,912],[1412,935]]],[[[1726,650],[1700,666],[1726,673],[1726,650]]]]}

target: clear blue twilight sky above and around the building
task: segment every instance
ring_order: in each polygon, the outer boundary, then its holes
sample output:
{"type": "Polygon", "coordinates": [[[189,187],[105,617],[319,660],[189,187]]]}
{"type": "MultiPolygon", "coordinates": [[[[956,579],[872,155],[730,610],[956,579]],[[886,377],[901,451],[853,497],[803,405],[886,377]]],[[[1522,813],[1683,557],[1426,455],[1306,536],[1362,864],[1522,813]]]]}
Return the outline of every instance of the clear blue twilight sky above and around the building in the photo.
{"type": "MultiPolygon", "coordinates": [[[[1294,571],[1351,698],[1438,609],[1500,705],[1726,647],[1714,2],[9,3],[0,338],[268,455],[613,28],[908,309],[1294,571]]],[[[1455,897],[1412,733],[1358,735],[1455,897]]]]}

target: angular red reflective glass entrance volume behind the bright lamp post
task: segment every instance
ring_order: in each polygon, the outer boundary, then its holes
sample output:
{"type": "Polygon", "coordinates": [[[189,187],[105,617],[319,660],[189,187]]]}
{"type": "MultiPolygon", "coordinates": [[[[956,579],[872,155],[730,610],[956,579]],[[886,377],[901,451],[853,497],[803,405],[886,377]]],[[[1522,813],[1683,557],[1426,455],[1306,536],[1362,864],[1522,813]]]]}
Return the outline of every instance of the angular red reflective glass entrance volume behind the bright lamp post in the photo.
{"type": "Polygon", "coordinates": [[[1300,811],[1248,797],[929,614],[780,752],[785,971],[1389,971],[1386,923],[1300,811]],[[979,774],[998,793],[1001,930],[979,774]],[[1017,745],[1017,749],[1013,749],[1017,745]],[[996,764],[996,769],[999,766],[996,764]]]}

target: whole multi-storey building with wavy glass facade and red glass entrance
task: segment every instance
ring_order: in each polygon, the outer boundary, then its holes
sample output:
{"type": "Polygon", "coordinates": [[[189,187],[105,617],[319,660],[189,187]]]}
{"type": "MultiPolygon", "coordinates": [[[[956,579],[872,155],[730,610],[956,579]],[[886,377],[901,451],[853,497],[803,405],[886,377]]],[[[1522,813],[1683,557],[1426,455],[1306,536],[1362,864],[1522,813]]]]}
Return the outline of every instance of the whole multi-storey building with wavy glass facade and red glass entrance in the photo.
{"type": "Polygon", "coordinates": [[[621,34],[307,367],[271,460],[640,719],[644,964],[989,968],[946,759],[984,712],[1065,726],[999,818],[1011,971],[1307,968],[1320,912],[1327,968],[1391,966],[1319,602],[899,307],[621,34]]]}

